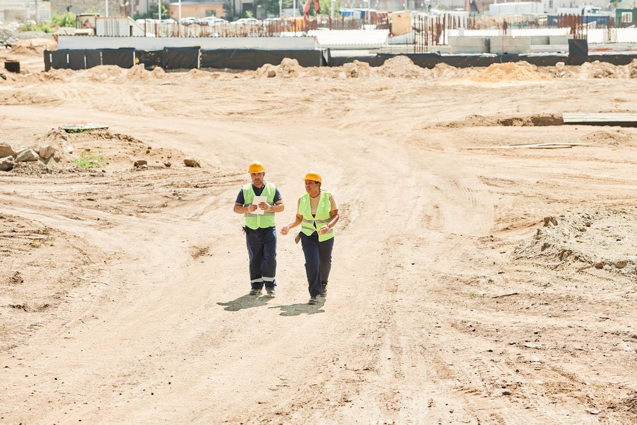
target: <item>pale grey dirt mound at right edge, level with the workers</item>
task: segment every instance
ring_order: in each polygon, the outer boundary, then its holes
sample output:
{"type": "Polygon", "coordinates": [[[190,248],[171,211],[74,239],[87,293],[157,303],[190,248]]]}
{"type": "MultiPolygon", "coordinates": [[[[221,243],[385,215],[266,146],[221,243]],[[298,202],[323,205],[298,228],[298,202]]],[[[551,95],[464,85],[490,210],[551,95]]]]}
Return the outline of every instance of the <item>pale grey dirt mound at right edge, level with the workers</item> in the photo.
{"type": "MultiPolygon", "coordinates": [[[[575,264],[622,274],[637,272],[637,207],[545,217],[543,227],[513,250],[513,259],[575,264]]],[[[583,267],[582,267],[583,266],[583,267]]]]}

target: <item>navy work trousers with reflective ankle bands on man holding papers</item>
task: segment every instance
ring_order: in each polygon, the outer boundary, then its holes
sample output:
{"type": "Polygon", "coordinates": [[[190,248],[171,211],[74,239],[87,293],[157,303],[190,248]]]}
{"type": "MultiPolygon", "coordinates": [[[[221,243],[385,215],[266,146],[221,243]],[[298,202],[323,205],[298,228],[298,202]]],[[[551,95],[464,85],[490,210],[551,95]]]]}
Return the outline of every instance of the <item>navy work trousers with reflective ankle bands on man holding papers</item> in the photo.
{"type": "Polygon", "coordinates": [[[262,289],[263,285],[276,286],[276,228],[245,228],[245,241],[250,258],[250,285],[262,289]]]}

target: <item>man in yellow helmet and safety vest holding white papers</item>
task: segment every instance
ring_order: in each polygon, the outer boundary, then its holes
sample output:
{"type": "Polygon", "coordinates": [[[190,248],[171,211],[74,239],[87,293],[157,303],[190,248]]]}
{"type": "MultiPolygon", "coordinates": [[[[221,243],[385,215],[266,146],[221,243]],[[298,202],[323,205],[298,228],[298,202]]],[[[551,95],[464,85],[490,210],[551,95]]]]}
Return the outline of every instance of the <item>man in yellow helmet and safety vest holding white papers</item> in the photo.
{"type": "Polygon", "coordinates": [[[239,191],[234,212],[245,218],[246,244],[250,258],[250,295],[261,294],[263,285],[268,295],[275,294],[276,274],[276,229],[275,213],[282,212],[283,199],[276,186],[264,180],[266,168],[259,161],[248,167],[252,183],[243,185],[239,191]],[[266,202],[255,205],[255,196],[263,196],[266,202]],[[257,212],[257,208],[259,211],[257,212]],[[261,213],[260,213],[261,212],[261,213]]]}

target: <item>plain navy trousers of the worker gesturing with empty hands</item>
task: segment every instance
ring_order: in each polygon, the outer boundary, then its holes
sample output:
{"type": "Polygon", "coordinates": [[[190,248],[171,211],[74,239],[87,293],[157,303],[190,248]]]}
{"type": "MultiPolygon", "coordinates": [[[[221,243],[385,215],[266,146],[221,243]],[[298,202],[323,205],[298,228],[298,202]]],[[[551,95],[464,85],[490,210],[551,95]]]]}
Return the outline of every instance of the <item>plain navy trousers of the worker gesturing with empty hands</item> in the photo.
{"type": "Polygon", "coordinates": [[[334,238],[319,242],[316,232],[311,236],[301,232],[301,246],[303,246],[303,254],[305,254],[308,291],[310,291],[310,296],[320,295],[323,293],[322,285],[327,285],[329,271],[332,268],[334,238]]]}

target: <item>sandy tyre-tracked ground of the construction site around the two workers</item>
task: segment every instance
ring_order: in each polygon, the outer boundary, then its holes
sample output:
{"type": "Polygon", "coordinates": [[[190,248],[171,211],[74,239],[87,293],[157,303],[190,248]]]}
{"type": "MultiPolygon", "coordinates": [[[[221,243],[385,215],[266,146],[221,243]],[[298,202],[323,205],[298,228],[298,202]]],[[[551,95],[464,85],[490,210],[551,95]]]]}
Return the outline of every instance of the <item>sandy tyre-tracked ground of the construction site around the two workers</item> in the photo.
{"type": "Polygon", "coordinates": [[[341,72],[0,81],[2,141],[75,147],[0,173],[0,421],[637,421],[637,130],[533,118],[634,111],[637,80],[341,72]],[[290,236],[247,295],[253,159],[279,227],[308,169],[340,204],[318,305],[290,236]]]}

